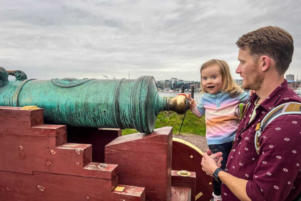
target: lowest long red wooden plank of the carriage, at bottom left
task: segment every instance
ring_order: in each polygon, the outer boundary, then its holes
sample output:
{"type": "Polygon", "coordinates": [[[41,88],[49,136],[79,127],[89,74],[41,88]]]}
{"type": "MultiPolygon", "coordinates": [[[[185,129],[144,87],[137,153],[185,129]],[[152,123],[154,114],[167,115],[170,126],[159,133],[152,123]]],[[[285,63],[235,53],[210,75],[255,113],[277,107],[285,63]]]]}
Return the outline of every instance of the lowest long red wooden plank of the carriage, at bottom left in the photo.
{"type": "Polygon", "coordinates": [[[22,174],[0,171],[0,197],[3,200],[143,200],[144,188],[129,187],[112,192],[116,179],[98,179],[36,172],[22,174]]]}

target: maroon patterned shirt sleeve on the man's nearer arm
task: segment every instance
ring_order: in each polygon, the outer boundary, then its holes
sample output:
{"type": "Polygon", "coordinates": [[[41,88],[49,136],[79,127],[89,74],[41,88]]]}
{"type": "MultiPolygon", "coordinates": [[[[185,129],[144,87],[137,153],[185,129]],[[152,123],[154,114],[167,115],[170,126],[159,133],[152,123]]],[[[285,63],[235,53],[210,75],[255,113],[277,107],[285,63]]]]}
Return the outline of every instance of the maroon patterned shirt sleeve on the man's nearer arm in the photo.
{"type": "Polygon", "coordinates": [[[251,200],[287,200],[300,191],[301,118],[285,115],[272,121],[260,136],[259,160],[246,191],[251,200]],[[298,186],[296,186],[298,185],[298,186]],[[298,192],[294,192],[298,191],[298,192]]]}

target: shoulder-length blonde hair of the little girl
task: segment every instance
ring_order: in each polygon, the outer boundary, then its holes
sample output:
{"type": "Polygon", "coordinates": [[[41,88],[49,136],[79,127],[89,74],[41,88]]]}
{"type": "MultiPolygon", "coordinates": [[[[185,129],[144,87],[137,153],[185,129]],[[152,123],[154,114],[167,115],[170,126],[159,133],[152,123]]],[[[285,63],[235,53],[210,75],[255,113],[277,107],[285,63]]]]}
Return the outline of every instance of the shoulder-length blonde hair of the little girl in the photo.
{"type": "MultiPolygon", "coordinates": [[[[222,81],[223,81],[223,86],[221,89],[221,92],[229,92],[231,97],[235,97],[239,95],[240,93],[243,92],[243,90],[238,86],[235,81],[233,80],[231,73],[230,73],[230,68],[227,64],[226,61],[219,60],[219,59],[211,59],[209,61],[206,61],[200,66],[200,73],[202,77],[202,71],[206,68],[209,68],[213,65],[218,65],[220,69],[220,73],[222,75],[222,81]]],[[[201,93],[208,93],[203,85],[202,85],[202,80],[201,80],[201,86],[200,86],[200,91],[201,93]]]]}

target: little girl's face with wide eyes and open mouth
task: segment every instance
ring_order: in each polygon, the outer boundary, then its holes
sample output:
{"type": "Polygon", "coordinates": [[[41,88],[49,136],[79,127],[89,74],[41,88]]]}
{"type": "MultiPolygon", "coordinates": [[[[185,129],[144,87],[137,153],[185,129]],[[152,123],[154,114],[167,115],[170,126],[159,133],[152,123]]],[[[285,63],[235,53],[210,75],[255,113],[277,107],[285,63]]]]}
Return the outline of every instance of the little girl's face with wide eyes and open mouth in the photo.
{"type": "Polygon", "coordinates": [[[210,94],[216,94],[222,89],[223,79],[217,64],[201,71],[202,86],[210,94]]]}

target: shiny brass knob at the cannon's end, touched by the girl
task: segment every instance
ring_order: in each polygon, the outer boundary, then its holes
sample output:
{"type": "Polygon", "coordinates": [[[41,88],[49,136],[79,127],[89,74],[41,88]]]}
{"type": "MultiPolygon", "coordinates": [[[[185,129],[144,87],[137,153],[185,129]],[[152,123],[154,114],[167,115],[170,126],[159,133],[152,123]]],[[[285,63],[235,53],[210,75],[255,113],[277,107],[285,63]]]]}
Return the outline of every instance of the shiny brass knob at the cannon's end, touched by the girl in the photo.
{"type": "Polygon", "coordinates": [[[167,111],[175,111],[176,113],[182,115],[185,114],[187,110],[189,110],[191,106],[191,102],[185,96],[176,96],[174,98],[166,99],[166,110],[167,111]]]}

